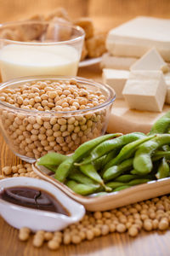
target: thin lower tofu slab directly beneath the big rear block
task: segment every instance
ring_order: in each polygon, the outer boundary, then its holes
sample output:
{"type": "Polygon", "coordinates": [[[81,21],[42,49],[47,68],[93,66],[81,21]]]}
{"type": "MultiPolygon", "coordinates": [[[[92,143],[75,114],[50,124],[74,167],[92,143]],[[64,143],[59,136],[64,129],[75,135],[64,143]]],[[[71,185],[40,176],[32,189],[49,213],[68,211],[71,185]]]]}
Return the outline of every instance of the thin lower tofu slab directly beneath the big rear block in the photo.
{"type": "Polygon", "coordinates": [[[105,53],[102,55],[100,67],[129,70],[133,63],[135,63],[137,60],[137,58],[117,57],[112,56],[109,53],[105,53]]]}

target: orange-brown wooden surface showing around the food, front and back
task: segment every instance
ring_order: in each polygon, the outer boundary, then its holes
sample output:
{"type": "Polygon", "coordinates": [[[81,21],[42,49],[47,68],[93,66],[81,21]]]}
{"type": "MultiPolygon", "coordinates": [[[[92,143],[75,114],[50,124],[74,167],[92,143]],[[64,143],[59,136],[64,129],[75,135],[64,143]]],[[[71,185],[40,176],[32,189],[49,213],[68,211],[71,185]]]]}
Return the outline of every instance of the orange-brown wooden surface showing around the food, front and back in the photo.
{"type": "MultiPolygon", "coordinates": [[[[152,15],[170,18],[169,0],[0,0],[0,22],[23,19],[37,13],[46,13],[64,6],[72,17],[81,15],[95,16],[95,24],[100,30],[108,31],[136,15],[152,15]],[[107,3],[106,3],[107,2],[107,3]],[[74,3],[74,4],[73,4],[74,3]],[[97,3],[97,4],[96,4],[97,3]],[[102,19],[101,19],[102,16],[102,19]]],[[[98,66],[84,67],[79,76],[89,79],[101,79],[98,66]]],[[[0,135],[0,174],[3,166],[16,165],[20,159],[14,156],[0,135]]],[[[113,233],[82,241],[80,245],[61,246],[56,252],[48,250],[46,244],[41,248],[32,246],[32,241],[22,242],[18,239],[18,230],[10,227],[0,217],[0,256],[42,256],[42,255],[88,255],[88,256],[168,256],[170,255],[170,231],[140,232],[136,238],[113,233]]]]}

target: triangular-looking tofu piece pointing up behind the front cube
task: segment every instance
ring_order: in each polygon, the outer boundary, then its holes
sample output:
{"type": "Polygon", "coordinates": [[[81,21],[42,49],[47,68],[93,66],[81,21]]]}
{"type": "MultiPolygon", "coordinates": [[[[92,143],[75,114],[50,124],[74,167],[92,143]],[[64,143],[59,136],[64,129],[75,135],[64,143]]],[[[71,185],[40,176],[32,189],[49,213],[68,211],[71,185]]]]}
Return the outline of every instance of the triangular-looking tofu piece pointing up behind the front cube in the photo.
{"type": "Polygon", "coordinates": [[[161,70],[167,66],[166,62],[155,48],[147,51],[138,61],[136,61],[130,70],[161,70]]]}

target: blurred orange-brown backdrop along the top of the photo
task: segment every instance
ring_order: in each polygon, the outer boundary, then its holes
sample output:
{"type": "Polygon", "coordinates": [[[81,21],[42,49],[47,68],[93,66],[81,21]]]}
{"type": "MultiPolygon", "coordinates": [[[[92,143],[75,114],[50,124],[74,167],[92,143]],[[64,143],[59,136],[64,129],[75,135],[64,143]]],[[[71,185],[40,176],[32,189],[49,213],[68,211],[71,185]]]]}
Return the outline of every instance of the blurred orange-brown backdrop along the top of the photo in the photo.
{"type": "Polygon", "coordinates": [[[170,0],[0,0],[0,22],[47,15],[59,7],[72,20],[91,17],[103,32],[137,15],[170,18],[170,0]]]}

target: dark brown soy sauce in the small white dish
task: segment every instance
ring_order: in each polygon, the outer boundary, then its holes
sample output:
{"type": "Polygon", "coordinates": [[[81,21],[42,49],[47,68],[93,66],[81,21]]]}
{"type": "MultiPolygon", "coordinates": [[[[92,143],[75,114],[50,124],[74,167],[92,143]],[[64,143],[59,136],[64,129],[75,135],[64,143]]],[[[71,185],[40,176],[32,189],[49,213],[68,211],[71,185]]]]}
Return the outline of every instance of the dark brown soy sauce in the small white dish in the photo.
{"type": "Polygon", "coordinates": [[[21,207],[57,212],[66,216],[71,215],[70,212],[56,200],[54,195],[49,194],[43,189],[27,187],[2,189],[0,190],[0,199],[21,207]]]}

